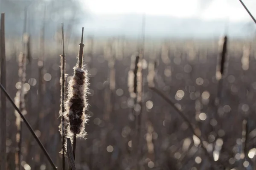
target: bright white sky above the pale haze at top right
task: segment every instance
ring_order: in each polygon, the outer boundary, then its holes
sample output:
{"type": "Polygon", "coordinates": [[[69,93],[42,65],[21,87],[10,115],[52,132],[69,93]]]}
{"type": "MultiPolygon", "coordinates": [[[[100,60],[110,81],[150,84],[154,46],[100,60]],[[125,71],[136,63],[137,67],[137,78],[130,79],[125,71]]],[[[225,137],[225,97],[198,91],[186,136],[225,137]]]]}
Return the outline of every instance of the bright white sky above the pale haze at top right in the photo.
{"type": "MultiPolygon", "coordinates": [[[[93,14],[148,14],[231,22],[251,21],[239,0],[83,0],[93,14]]],[[[243,0],[256,16],[256,0],[243,0]]]]}

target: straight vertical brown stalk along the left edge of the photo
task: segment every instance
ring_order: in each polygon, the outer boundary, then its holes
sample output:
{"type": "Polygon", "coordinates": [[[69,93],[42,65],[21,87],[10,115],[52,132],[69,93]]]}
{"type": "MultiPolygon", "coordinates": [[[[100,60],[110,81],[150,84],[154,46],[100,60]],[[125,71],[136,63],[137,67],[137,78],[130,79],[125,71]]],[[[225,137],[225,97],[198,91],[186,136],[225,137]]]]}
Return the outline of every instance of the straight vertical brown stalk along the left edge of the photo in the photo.
{"type": "MultiPolygon", "coordinates": [[[[5,15],[1,14],[0,25],[0,73],[1,84],[6,88],[6,54],[5,54],[5,15]]],[[[1,119],[0,119],[0,170],[6,170],[6,96],[1,93],[1,119]]]]}

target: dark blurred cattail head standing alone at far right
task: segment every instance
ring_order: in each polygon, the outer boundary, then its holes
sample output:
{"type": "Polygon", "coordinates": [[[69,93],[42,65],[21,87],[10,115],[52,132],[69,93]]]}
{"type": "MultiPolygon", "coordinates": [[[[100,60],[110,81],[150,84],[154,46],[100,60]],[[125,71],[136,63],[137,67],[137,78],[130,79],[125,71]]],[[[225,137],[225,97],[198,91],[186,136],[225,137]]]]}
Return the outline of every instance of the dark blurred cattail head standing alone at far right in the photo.
{"type": "Polygon", "coordinates": [[[224,76],[224,69],[225,69],[226,57],[227,57],[227,36],[225,36],[219,41],[219,46],[220,46],[219,64],[217,65],[217,69],[216,69],[216,79],[218,80],[224,76]]]}

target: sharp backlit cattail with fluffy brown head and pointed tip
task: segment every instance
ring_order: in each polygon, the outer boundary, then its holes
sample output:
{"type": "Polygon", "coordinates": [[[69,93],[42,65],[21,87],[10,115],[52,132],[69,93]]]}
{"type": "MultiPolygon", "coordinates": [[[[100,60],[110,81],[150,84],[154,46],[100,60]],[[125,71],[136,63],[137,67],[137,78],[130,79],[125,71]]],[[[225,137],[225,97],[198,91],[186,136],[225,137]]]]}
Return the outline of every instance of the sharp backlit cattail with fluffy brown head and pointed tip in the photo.
{"type": "Polygon", "coordinates": [[[65,105],[65,117],[69,121],[68,134],[73,135],[73,155],[75,159],[76,153],[76,137],[84,137],[84,124],[87,122],[87,109],[86,95],[88,92],[88,78],[87,71],[83,69],[83,34],[82,28],[81,43],[79,44],[79,59],[77,65],[74,67],[75,74],[68,84],[68,99],[65,105]]]}

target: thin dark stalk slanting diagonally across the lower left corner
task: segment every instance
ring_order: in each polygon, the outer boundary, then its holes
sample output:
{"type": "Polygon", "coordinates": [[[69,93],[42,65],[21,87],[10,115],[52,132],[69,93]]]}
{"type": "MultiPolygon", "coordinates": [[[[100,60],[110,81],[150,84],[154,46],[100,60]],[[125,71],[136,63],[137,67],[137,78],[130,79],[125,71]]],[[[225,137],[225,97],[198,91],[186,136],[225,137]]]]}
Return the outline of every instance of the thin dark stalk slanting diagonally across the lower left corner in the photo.
{"type": "Polygon", "coordinates": [[[48,161],[50,162],[52,168],[54,170],[57,170],[57,167],[55,166],[55,164],[53,163],[51,157],[49,156],[49,153],[47,152],[47,150],[45,149],[44,145],[41,143],[41,141],[38,139],[38,137],[36,136],[34,130],[32,129],[31,125],[29,124],[29,122],[26,120],[26,118],[23,116],[23,114],[21,113],[21,111],[19,110],[19,108],[17,108],[17,106],[15,105],[14,101],[12,100],[11,96],[8,94],[8,92],[6,91],[6,89],[3,87],[3,85],[0,83],[0,88],[3,92],[3,94],[5,94],[5,96],[7,97],[7,99],[11,102],[11,104],[13,105],[13,107],[15,108],[15,110],[20,114],[21,119],[23,120],[23,122],[26,124],[26,126],[29,128],[29,131],[32,133],[32,136],[35,138],[36,142],[39,144],[41,150],[44,152],[44,155],[47,157],[48,161]]]}

